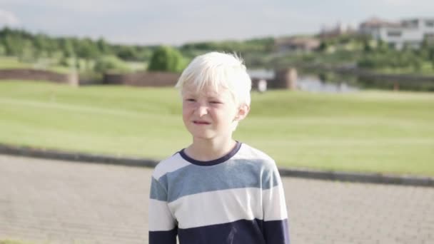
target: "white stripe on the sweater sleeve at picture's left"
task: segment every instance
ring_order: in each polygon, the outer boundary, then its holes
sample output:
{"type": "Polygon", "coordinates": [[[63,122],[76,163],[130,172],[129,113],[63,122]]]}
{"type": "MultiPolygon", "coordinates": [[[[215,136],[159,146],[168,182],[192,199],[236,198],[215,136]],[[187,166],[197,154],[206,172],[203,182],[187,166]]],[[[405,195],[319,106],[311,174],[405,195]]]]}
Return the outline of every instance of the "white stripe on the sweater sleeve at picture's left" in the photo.
{"type": "Polygon", "coordinates": [[[164,231],[175,228],[176,222],[166,202],[149,199],[148,225],[150,231],[164,231]]]}

